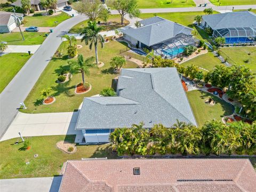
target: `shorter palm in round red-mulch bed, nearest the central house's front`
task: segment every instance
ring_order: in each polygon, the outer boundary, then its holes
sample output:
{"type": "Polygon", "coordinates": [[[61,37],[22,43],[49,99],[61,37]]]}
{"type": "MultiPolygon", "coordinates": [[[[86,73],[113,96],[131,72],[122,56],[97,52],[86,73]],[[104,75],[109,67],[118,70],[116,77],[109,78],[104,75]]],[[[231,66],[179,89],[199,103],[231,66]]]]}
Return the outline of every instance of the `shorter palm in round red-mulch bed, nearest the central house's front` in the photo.
{"type": "Polygon", "coordinates": [[[94,57],[84,59],[82,54],[79,54],[77,60],[69,60],[71,73],[81,73],[83,85],[85,86],[84,75],[90,75],[90,68],[94,67],[94,57]]]}

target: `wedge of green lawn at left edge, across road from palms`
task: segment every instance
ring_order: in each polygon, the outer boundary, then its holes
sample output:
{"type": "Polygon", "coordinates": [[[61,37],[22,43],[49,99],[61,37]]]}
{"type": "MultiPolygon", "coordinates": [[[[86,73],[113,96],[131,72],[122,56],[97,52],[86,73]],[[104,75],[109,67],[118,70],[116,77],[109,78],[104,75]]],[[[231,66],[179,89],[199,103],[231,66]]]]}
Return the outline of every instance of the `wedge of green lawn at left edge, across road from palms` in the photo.
{"type": "Polygon", "coordinates": [[[30,57],[28,53],[9,53],[0,57],[0,93],[30,57]]]}

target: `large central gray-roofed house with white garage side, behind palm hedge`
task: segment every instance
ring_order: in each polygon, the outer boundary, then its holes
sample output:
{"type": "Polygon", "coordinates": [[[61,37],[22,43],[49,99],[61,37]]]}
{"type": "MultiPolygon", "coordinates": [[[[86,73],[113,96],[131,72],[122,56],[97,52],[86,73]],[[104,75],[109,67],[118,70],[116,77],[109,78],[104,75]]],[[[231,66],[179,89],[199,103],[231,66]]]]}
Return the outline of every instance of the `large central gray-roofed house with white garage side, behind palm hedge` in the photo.
{"type": "Polygon", "coordinates": [[[117,127],[172,127],[177,119],[197,125],[176,68],[122,69],[117,97],[84,98],[75,129],[86,143],[99,143],[117,127]]]}

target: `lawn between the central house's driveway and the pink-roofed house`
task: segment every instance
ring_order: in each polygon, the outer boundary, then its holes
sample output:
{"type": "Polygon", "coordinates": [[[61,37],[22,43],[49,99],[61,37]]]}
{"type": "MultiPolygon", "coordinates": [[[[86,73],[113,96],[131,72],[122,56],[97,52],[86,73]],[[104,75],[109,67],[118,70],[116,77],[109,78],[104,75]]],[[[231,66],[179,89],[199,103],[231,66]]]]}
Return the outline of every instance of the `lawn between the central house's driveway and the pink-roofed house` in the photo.
{"type": "Polygon", "coordinates": [[[30,150],[20,150],[23,146],[20,138],[0,142],[0,179],[53,177],[59,175],[63,163],[70,159],[108,157],[116,158],[110,153],[109,145],[77,146],[74,154],[66,154],[55,147],[58,141],[74,142],[75,135],[57,135],[30,137],[30,150]],[[14,145],[14,142],[21,143],[14,145]],[[34,158],[34,154],[38,157],[34,158]],[[26,165],[26,162],[29,162],[26,165]]]}

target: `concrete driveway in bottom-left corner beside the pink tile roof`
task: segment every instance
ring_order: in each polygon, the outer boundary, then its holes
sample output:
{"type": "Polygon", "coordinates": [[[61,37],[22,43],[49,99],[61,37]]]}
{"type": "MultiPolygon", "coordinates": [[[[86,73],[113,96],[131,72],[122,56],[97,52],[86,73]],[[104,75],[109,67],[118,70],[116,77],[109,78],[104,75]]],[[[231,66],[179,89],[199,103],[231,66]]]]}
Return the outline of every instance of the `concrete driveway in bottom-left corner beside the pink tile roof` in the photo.
{"type": "Polygon", "coordinates": [[[1,192],[58,192],[62,177],[1,179],[1,192]]]}

